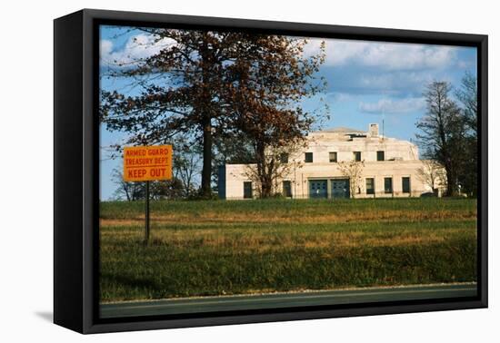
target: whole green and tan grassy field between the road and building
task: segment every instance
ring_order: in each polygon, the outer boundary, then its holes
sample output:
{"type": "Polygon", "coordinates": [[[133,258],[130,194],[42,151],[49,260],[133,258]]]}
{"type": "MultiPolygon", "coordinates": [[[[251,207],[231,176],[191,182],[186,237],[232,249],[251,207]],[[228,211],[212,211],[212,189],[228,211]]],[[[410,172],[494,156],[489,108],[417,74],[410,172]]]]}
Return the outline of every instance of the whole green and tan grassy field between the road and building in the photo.
{"type": "Polygon", "coordinates": [[[467,199],[102,202],[101,299],[475,281],[467,199]]]}

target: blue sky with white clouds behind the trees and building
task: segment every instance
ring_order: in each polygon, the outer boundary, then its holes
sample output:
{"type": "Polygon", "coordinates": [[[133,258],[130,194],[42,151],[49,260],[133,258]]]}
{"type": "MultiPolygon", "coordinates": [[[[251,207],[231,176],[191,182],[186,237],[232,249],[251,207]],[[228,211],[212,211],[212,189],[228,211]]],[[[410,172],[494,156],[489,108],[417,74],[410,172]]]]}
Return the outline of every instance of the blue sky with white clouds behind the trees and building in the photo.
{"type": "MultiPolygon", "coordinates": [[[[305,54],[315,54],[323,39],[311,38],[305,54]]],[[[166,40],[153,43],[151,36],[114,26],[101,27],[101,72],[115,64],[129,64],[172,44],[166,40]]],[[[366,130],[368,123],[384,121],[385,135],[415,140],[415,122],[425,114],[422,93],[432,81],[448,81],[456,86],[466,72],[476,74],[475,48],[395,44],[386,42],[325,39],[325,64],[319,75],[328,83],[325,93],[303,103],[314,111],[322,98],[329,106],[330,120],[324,128],[347,126],[366,130]]],[[[101,88],[133,95],[137,89],[129,81],[103,77],[101,88]]],[[[106,147],[125,139],[122,132],[108,132],[101,127],[101,199],[115,191],[111,171],[120,166],[110,159],[106,147]]]]}

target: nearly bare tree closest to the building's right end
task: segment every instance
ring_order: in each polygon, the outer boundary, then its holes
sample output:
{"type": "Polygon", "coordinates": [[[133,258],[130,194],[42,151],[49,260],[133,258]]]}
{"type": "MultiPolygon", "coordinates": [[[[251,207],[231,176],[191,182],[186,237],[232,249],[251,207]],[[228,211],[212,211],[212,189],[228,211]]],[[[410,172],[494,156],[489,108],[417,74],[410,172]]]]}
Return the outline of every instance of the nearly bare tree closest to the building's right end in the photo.
{"type": "Polygon", "coordinates": [[[417,123],[417,140],[424,148],[426,158],[445,167],[446,195],[458,191],[459,176],[465,159],[465,121],[457,103],[450,97],[452,86],[433,82],[424,93],[427,103],[425,116],[417,123]]]}

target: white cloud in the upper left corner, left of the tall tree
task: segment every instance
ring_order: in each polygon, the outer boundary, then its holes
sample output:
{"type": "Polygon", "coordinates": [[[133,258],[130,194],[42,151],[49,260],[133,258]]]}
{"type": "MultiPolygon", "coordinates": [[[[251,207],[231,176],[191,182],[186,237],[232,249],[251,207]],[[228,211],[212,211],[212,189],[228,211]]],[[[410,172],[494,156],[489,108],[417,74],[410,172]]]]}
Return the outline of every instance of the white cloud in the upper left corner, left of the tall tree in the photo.
{"type": "Polygon", "coordinates": [[[103,39],[100,42],[101,65],[133,65],[173,44],[175,41],[169,38],[157,40],[153,34],[135,34],[121,50],[115,50],[113,42],[103,39]]]}

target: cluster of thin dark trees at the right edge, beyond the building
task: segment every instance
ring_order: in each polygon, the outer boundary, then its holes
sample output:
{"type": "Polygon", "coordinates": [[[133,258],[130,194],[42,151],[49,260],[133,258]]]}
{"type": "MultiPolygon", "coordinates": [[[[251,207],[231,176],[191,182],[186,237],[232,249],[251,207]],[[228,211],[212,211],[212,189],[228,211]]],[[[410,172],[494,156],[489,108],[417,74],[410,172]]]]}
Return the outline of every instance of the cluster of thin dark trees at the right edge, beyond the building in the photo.
{"type": "Polygon", "coordinates": [[[433,82],[424,93],[425,116],[416,126],[423,157],[445,169],[447,196],[477,195],[477,81],[465,73],[461,84],[433,82]]]}

